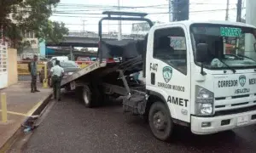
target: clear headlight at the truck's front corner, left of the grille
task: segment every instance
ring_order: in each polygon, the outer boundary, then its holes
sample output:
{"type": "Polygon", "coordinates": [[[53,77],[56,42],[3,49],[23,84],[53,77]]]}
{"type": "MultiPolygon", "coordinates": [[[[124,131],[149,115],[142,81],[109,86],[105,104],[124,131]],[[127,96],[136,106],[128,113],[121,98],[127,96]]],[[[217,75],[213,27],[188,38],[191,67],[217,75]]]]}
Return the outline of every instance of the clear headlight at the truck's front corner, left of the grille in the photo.
{"type": "Polygon", "coordinates": [[[214,94],[202,88],[195,86],[195,112],[198,116],[213,115],[214,94]]]}

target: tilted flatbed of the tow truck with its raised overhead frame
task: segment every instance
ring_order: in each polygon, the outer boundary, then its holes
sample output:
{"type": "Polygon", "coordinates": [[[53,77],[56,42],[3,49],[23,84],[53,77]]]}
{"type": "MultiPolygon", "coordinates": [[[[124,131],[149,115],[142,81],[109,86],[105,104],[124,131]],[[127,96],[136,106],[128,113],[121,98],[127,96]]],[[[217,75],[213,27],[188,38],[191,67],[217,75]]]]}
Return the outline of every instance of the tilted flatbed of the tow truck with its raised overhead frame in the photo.
{"type": "MultiPolygon", "coordinates": [[[[115,72],[126,71],[125,75],[130,75],[131,73],[138,72],[138,71],[144,71],[143,70],[144,63],[145,63],[144,54],[143,55],[138,54],[136,58],[126,60],[121,63],[119,62],[108,63],[106,61],[102,62],[103,51],[104,51],[101,48],[103,45],[102,21],[103,20],[136,20],[136,21],[146,21],[148,22],[149,26],[153,26],[153,22],[151,20],[144,18],[148,14],[132,13],[132,12],[113,12],[113,11],[105,11],[102,14],[107,14],[108,17],[104,17],[102,18],[102,20],[99,21],[100,40],[99,40],[99,49],[98,49],[98,60],[96,60],[96,62],[92,63],[91,65],[88,65],[87,67],[83,68],[82,70],[73,73],[71,76],[64,78],[61,81],[61,88],[69,86],[73,90],[76,85],[81,86],[83,83],[80,83],[80,82],[84,82],[84,79],[86,79],[86,77],[88,76],[97,77],[97,79],[101,79],[100,77],[104,77],[114,71],[115,72]],[[112,15],[122,15],[123,17],[113,17],[112,15]],[[125,16],[128,16],[128,17],[125,17],[125,16]],[[137,67],[139,68],[137,69],[137,67]],[[130,69],[130,71],[127,71],[128,69],[130,69]]],[[[144,76],[144,73],[143,73],[143,76],[144,76]]],[[[125,86],[127,86],[127,83],[126,82],[124,83],[126,84],[125,86]]]]}

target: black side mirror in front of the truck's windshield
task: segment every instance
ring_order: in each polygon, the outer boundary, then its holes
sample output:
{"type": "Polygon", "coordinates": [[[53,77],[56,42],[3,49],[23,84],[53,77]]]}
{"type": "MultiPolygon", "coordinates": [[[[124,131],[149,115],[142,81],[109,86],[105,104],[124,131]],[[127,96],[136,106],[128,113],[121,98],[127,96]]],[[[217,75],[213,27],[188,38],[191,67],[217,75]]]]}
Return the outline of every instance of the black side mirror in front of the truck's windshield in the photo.
{"type": "Polygon", "coordinates": [[[204,62],[206,61],[207,57],[207,49],[208,44],[207,43],[198,43],[196,46],[196,54],[195,54],[195,60],[197,62],[204,62]]]}

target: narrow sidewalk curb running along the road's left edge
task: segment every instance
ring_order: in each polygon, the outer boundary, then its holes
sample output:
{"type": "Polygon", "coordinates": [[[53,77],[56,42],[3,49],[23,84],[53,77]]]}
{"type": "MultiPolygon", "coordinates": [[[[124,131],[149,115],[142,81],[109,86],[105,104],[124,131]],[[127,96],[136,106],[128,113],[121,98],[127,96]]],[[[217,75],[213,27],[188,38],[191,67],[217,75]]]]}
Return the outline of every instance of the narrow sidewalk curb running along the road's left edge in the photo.
{"type": "MultiPolygon", "coordinates": [[[[35,109],[35,111],[33,111],[31,113],[31,116],[35,116],[35,115],[42,116],[43,112],[45,111],[44,108],[49,104],[51,97],[52,97],[52,93],[50,93],[48,96],[46,96],[42,100],[42,104],[38,105],[38,107],[35,109]]],[[[26,122],[26,119],[23,122],[26,122]]],[[[23,130],[22,130],[22,126],[20,125],[20,127],[16,130],[16,132],[0,148],[0,153],[4,153],[4,152],[8,151],[10,149],[10,147],[12,146],[12,144],[15,144],[15,140],[20,138],[22,133],[23,133],[23,130]]]]}

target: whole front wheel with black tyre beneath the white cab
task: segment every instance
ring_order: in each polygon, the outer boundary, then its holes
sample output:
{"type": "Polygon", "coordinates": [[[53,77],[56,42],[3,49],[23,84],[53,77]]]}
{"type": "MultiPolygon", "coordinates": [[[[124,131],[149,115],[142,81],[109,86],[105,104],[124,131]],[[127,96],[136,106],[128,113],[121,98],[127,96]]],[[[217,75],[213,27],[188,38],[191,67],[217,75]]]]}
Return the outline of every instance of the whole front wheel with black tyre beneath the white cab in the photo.
{"type": "Polygon", "coordinates": [[[157,139],[167,141],[171,139],[173,122],[169,109],[161,102],[155,102],[150,107],[148,122],[152,133],[157,139]]]}

